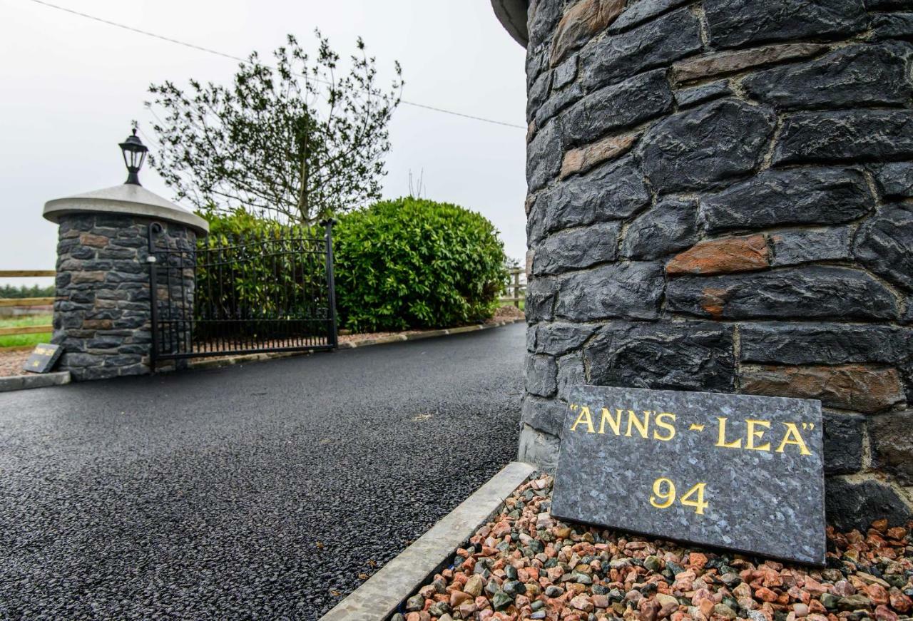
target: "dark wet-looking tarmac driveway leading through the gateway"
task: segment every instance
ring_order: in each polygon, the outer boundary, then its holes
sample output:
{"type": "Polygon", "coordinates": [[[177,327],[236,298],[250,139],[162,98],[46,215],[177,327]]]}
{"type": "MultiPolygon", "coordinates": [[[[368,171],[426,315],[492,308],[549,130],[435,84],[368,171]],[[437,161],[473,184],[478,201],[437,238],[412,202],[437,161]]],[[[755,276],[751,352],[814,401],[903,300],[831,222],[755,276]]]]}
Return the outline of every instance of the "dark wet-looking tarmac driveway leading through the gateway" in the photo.
{"type": "Polygon", "coordinates": [[[0,394],[0,619],[320,617],[515,458],[524,332],[0,394]]]}

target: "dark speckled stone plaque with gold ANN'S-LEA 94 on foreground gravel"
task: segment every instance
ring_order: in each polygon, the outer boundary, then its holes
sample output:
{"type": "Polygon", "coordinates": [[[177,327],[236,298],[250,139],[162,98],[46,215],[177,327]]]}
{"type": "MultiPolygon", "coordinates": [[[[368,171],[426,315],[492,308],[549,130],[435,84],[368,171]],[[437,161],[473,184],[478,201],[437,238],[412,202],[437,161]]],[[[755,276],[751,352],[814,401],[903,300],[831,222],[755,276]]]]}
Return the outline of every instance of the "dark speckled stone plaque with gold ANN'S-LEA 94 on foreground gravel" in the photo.
{"type": "Polygon", "coordinates": [[[824,564],[821,402],[574,386],[552,515],[824,564]]]}

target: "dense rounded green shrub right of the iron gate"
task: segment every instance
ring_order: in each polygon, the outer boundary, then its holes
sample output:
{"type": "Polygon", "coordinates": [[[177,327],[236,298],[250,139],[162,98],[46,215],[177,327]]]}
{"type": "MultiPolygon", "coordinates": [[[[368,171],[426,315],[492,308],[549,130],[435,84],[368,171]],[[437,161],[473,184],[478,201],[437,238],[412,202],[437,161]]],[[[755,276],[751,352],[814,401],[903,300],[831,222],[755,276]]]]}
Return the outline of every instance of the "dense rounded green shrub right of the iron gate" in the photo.
{"type": "Polygon", "coordinates": [[[341,216],[333,238],[340,325],[353,332],[443,328],[498,306],[504,245],[463,207],[383,201],[341,216]]]}

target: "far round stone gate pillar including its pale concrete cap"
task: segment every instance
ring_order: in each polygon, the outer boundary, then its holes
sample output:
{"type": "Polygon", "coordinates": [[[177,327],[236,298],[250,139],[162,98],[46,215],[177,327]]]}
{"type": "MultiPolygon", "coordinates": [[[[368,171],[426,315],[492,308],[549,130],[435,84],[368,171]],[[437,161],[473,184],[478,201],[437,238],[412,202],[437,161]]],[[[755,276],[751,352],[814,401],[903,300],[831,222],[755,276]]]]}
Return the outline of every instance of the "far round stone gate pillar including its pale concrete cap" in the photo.
{"type": "MultiPolygon", "coordinates": [[[[52,342],[64,348],[60,370],[78,381],[150,373],[150,225],[161,225],[156,247],[192,251],[208,223],[139,184],[48,201],[44,216],[59,225],[52,342]]],[[[193,300],[192,292],[174,298],[193,300]]]]}

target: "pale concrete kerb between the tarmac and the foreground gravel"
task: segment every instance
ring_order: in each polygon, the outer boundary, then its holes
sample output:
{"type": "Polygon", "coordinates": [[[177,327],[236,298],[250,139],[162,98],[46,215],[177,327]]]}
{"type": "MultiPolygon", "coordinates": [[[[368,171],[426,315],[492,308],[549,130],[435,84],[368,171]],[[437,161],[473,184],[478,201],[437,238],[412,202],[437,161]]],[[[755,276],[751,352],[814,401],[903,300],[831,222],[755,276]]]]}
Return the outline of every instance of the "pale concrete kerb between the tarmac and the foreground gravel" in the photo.
{"type": "Polygon", "coordinates": [[[519,461],[509,463],[320,621],[383,621],[393,615],[536,469],[519,461]]]}

